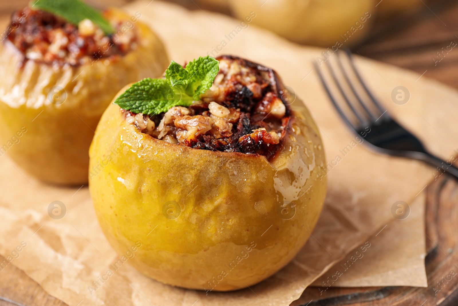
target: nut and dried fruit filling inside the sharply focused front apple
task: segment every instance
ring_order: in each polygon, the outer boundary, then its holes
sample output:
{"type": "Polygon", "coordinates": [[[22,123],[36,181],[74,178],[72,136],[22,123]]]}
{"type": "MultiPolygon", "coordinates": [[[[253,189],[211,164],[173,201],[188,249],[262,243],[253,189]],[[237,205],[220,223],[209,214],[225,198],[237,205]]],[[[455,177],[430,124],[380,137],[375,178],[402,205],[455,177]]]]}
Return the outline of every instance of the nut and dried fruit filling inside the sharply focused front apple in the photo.
{"type": "Polygon", "coordinates": [[[217,59],[218,75],[201,100],[151,117],[121,110],[127,122],[172,144],[272,157],[291,118],[277,74],[237,57],[217,59]]]}

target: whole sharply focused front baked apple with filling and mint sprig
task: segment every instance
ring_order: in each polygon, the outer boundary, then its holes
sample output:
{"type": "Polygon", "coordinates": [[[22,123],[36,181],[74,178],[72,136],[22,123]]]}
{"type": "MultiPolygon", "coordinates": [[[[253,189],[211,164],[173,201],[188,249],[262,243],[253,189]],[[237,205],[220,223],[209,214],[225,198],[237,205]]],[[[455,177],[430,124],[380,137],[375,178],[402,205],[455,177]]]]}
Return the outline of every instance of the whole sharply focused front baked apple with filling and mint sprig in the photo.
{"type": "Polygon", "coordinates": [[[277,73],[217,60],[172,61],[164,79],[120,91],[90,148],[89,189],[105,236],[120,254],[136,249],[129,262],[139,271],[227,291],[297,254],[322,210],[326,178],[318,128],[277,73]]]}

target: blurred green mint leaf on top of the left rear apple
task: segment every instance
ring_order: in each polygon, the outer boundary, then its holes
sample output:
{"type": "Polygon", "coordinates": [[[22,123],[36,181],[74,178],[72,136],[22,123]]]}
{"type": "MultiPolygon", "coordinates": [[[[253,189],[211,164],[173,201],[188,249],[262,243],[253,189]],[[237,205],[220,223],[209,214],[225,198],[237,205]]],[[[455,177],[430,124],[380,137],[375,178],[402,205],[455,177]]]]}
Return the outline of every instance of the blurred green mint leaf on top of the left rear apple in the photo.
{"type": "Polygon", "coordinates": [[[36,10],[53,13],[76,26],[80,21],[90,19],[101,28],[105,34],[114,33],[114,29],[109,22],[102,17],[102,14],[81,0],[31,0],[29,6],[36,10]]]}

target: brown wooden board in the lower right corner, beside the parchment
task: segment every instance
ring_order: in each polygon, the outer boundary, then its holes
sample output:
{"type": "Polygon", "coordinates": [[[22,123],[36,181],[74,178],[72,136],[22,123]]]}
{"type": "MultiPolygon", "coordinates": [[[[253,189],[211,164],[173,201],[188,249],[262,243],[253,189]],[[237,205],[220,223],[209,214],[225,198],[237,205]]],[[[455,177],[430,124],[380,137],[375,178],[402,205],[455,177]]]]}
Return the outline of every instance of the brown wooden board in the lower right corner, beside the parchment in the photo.
{"type": "Polygon", "coordinates": [[[458,301],[458,181],[442,175],[427,187],[425,259],[428,288],[307,288],[291,306],[456,306],[458,301]],[[447,280],[449,279],[449,280],[447,280]],[[442,289],[441,289],[442,287],[442,289]]]}

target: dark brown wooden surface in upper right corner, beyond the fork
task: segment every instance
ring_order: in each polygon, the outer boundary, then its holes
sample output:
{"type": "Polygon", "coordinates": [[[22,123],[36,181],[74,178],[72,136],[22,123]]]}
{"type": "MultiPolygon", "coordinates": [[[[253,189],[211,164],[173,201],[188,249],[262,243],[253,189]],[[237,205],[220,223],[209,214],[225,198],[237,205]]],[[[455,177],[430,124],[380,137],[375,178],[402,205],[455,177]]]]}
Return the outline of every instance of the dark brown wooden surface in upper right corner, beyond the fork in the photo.
{"type": "Polygon", "coordinates": [[[458,48],[446,50],[452,42],[458,43],[458,3],[456,0],[423,2],[427,6],[413,16],[379,23],[372,35],[353,51],[458,88],[458,48]]]}

